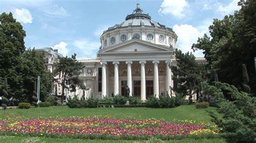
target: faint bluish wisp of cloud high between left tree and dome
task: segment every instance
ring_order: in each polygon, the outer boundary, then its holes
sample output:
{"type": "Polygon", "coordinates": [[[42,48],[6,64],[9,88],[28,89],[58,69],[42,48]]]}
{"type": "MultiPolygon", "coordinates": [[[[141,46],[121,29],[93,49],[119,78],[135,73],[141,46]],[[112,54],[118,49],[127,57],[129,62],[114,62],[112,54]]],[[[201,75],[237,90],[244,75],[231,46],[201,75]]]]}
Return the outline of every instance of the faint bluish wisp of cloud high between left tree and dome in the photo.
{"type": "Polygon", "coordinates": [[[52,16],[68,16],[66,10],[57,4],[50,6],[50,8],[45,8],[44,12],[52,16]]]}

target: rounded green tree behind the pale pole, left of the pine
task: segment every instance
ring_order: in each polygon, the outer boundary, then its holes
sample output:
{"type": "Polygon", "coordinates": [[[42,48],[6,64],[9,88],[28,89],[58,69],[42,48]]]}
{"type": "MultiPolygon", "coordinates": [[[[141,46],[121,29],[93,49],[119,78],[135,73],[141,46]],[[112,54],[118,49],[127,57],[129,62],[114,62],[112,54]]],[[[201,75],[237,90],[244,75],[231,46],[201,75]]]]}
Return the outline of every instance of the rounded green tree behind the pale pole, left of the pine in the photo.
{"type": "Polygon", "coordinates": [[[45,69],[44,55],[42,52],[37,52],[35,49],[27,49],[22,54],[21,74],[23,77],[23,85],[25,93],[23,97],[31,101],[32,96],[35,96],[34,84],[37,82],[37,76],[40,76],[40,99],[45,100],[52,89],[53,74],[45,69]]]}

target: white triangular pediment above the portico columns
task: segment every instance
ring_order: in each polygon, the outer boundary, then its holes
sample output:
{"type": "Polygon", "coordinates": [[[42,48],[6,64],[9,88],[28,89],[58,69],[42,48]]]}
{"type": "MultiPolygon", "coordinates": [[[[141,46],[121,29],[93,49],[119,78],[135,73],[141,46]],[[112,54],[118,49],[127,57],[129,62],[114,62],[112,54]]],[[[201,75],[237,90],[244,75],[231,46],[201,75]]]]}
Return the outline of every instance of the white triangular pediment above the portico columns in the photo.
{"type": "Polygon", "coordinates": [[[165,46],[153,44],[151,42],[132,39],[121,44],[107,47],[100,53],[129,53],[129,52],[170,52],[171,49],[165,46]]]}

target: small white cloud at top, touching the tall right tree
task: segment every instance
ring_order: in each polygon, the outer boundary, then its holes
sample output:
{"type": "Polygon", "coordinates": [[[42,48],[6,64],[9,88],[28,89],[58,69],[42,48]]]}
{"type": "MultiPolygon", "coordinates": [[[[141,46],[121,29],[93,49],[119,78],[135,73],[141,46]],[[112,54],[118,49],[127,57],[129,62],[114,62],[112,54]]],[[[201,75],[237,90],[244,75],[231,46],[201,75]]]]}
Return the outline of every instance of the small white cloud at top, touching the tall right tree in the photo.
{"type": "Polygon", "coordinates": [[[240,0],[233,0],[231,3],[228,5],[223,5],[221,3],[218,3],[218,8],[217,11],[222,15],[230,15],[232,14],[235,10],[239,10],[240,6],[238,6],[238,2],[240,0]]]}

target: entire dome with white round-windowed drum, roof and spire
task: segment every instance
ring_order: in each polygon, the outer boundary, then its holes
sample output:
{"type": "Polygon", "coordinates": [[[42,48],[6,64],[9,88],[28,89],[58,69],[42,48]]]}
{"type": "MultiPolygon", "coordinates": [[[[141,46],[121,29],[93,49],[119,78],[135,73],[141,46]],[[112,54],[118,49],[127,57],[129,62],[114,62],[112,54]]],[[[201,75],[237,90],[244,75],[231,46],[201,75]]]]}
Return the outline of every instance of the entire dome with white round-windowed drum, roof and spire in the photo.
{"type": "Polygon", "coordinates": [[[109,27],[100,35],[100,49],[121,44],[134,38],[166,47],[176,46],[177,35],[169,28],[151,20],[149,14],[142,13],[139,4],[125,22],[109,27]]]}

